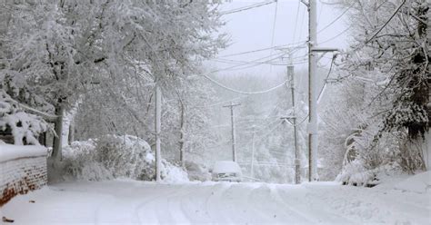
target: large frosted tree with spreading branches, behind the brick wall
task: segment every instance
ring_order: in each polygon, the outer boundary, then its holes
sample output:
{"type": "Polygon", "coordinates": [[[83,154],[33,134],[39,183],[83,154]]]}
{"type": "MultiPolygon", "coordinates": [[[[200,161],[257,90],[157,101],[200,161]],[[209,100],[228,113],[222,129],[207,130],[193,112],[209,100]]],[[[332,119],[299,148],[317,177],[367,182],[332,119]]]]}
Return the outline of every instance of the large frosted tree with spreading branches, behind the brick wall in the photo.
{"type": "MultiPolygon", "coordinates": [[[[10,12],[5,69],[23,73],[55,106],[57,136],[64,112],[91,97],[95,86],[145,126],[125,99],[126,85],[141,88],[157,79],[169,90],[224,44],[213,34],[221,25],[216,4],[205,1],[28,1],[5,3],[2,10],[10,12]]],[[[55,139],[57,158],[60,142],[55,139]]]]}

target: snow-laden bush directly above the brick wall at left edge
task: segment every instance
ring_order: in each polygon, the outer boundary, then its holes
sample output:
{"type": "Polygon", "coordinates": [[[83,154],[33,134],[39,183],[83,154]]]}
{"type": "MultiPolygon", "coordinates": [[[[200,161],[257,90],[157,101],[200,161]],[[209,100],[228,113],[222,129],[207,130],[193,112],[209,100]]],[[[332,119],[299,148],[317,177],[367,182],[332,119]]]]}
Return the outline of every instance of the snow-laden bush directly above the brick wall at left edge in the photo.
{"type": "Polygon", "coordinates": [[[19,109],[19,103],[0,90],[0,130],[11,129],[17,145],[39,144],[37,136],[48,129],[48,124],[39,116],[19,109]]]}

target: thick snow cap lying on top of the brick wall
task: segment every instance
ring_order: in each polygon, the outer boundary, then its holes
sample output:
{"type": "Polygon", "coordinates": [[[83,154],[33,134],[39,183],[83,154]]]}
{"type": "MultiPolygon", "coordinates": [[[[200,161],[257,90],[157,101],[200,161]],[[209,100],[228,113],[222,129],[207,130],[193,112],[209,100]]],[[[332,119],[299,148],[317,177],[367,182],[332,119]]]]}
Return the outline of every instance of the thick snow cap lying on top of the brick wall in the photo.
{"type": "Polygon", "coordinates": [[[46,156],[46,148],[44,146],[0,144],[0,162],[37,156],[46,156]]]}

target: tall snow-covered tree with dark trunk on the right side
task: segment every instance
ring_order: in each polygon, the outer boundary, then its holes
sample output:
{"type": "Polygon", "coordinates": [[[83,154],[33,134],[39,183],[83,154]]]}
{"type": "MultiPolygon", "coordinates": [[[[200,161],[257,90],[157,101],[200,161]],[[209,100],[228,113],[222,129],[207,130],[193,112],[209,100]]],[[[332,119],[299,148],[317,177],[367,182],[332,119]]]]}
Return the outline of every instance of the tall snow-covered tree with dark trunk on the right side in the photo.
{"type": "Polygon", "coordinates": [[[365,170],[373,170],[396,161],[406,171],[423,168],[420,153],[403,146],[420,139],[430,124],[429,3],[335,2],[350,7],[352,42],[341,54],[338,74],[344,82],[332,100],[337,109],[326,110],[324,135],[333,147],[326,150],[338,149],[337,165],[361,160],[365,170]]]}

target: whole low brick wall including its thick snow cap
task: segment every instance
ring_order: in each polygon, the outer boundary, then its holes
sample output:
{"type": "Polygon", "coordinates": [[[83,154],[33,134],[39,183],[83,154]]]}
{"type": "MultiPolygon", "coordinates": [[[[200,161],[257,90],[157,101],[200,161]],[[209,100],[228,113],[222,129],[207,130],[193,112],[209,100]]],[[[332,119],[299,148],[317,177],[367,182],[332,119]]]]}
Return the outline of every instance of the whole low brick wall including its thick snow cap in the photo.
{"type": "Polygon", "coordinates": [[[0,206],[46,181],[44,146],[0,144],[0,206]]]}

